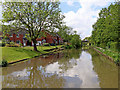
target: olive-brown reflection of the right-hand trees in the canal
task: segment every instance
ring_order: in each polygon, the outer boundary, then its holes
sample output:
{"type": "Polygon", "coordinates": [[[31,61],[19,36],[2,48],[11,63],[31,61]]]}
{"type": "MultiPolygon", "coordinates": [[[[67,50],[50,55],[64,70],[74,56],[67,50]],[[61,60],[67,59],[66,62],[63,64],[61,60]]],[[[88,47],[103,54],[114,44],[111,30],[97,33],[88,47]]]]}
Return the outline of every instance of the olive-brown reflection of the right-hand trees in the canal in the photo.
{"type": "Polygon", "coordinates": [[[116,65],[93,49],[88,52],[92,55],[93,69],[98,74],[100,87],[117,88],[118,70],[116,65]]]}

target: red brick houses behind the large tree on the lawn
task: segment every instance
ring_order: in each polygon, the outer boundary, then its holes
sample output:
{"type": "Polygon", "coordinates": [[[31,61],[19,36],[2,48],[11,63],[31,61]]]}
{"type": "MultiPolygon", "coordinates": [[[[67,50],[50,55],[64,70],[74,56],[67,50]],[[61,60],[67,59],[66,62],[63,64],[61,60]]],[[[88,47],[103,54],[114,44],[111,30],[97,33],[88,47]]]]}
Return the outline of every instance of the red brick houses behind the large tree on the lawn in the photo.
{"type": "MultiPolygon", "coordinates": [[[[25,38],[25,32],[12,33],[10,32],[7,35],[7,40],[22,44],[23,46],[32,46],[33,42],[30,42],[25,38]]],[[[59,45],[63,43],[63,39],[59,35],[51,35],[48,32],[45,32],[45,37],[37,38],[37,45],[42,45],[43,43],[49,43],[50,45],[59,45]]]]}

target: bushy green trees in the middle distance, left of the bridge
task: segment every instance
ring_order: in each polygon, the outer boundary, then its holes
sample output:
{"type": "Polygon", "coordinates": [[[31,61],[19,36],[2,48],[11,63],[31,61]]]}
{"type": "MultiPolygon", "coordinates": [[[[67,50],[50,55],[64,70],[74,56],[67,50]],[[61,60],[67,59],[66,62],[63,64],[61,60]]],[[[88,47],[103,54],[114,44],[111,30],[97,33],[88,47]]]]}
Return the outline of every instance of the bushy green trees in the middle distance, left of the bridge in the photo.
{"type": "Polygon", "coordinates": [[[81,38],[77,34],[77,31],[74,31],[71,27],[63,25],[57,33],[63,38],[64,42],[70,43],[70,48],[80,48],[81,47],[81,38]]]}

